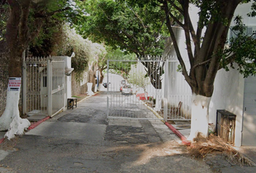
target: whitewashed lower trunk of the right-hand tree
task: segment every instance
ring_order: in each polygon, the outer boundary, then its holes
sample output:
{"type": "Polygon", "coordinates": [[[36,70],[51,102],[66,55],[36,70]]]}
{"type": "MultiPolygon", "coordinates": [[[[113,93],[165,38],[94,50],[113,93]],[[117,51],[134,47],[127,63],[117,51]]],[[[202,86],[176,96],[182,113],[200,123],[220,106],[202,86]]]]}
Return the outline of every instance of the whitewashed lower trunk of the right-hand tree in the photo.
{"type": "Polygon", "coordinates": [[[208,137],[210,99],[211,97],[205,97],[195,93],[192,94],[192,117],[189,141],[192,141],[198,133],[201,133],[204,137],[208,137]]]}

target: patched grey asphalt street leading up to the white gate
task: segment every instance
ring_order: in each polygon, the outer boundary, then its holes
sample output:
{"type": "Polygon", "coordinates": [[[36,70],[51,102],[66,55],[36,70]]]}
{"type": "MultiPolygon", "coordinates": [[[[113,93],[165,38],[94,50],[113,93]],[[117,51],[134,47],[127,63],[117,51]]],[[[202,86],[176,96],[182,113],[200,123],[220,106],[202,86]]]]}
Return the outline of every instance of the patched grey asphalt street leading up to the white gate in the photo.
{"type": "Polygon", "coordinates": [[[160,120],[106,120],[106,92],[38,125],[0,172],[212,172],[160,120]]]}

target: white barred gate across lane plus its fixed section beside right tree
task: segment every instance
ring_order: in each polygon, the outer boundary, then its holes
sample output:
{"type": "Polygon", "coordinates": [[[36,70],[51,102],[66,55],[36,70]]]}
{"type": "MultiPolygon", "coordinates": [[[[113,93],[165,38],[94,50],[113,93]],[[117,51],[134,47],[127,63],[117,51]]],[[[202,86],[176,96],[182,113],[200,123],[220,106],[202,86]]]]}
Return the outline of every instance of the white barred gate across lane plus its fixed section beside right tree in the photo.
{"type": "Polygon", "coordinates": [[[190,120],[191,90],[178,65],[170,57],[165,61],[108,60],[108,118],[159,119],[157,112],[166,121],[190,120]]]}

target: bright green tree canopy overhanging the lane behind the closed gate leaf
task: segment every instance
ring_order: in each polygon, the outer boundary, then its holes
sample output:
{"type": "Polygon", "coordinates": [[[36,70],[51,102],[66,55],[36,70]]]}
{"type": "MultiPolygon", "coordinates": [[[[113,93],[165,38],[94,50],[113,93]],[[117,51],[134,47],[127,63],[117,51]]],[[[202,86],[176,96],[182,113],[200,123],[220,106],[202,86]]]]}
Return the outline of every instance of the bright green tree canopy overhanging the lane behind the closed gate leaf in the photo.
{"type": "Polygon", "coordinates": [[[83,37],[104,42],[114,49],[137,56],[160,55],[163,51],[164,15],[157,6],[129,6],[123,1],[89,0],[80,2],[86,14],[77,22],[83,37]]]}

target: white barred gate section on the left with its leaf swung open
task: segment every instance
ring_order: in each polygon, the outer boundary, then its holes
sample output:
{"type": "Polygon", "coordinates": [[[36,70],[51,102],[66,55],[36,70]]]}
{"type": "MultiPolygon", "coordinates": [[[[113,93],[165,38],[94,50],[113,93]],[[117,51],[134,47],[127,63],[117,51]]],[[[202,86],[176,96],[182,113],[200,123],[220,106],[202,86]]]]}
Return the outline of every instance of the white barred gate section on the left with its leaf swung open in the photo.
{"type": "Polygon", "coordinates": [[[27,57],[22,71],[22,113],[53,116],[64,108],[64,61],[27,57]]]}

